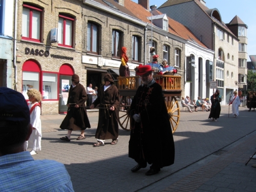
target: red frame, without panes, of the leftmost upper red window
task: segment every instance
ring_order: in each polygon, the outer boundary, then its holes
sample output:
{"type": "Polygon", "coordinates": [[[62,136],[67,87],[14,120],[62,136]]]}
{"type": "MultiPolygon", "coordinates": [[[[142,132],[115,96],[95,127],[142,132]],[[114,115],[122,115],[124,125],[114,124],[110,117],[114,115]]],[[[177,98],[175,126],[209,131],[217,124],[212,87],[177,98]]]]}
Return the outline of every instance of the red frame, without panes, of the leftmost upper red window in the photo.
{"type": "Polygon", "coordinates": [[[29,37],[23,37],[22,36],[21,39],[41,43],[41,31],[40,31],[39,39],[32,38],[32,16],[33,16],[33,10],[40,12],[40,29],[42,29],[41,26],[42,26],[42,12],[43,12],[43,9],[40,9],[40,8],[37,8],[37,7],[34,7],[34,6],[30,6],[30,5],[26,5],[26,4],[23,4],[23,7],[29,9],[29,37]]]}

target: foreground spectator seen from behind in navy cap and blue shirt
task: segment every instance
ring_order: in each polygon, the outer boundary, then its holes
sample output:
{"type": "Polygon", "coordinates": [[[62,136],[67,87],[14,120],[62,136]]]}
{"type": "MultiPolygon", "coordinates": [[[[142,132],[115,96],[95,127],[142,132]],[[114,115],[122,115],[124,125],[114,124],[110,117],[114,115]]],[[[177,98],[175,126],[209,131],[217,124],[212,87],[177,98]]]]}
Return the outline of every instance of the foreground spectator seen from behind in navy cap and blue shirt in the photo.
{"type": "Polygon", "coordinates": [[[34,160],[24,143],[32,133],[24,96],[0,87],[0,191],[73,192],[67,169],[54,160],[34,160]],[[8,115],[7,115],[8,114],[8,115]]]}

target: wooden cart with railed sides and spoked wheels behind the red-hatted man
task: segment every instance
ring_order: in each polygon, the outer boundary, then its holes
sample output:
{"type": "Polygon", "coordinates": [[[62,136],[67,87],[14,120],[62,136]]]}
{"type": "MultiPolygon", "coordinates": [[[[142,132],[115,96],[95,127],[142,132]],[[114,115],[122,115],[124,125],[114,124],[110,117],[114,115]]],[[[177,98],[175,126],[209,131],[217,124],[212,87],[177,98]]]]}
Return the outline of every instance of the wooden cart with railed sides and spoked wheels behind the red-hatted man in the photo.
{"type": "MultiPolygon", "coordinates": [[[[162,86],[166,108],[172,125],[172,133],[174,133],[180,121],[180,107],[175,96],[181,96],[181,76],[154,75],[153,77],[162,86]]],[[[120,96],[122,96],[118,109],[118,122],[124,130],[130,131],[131,117],[129,115],[129,109],[131,103],[129,101],[136,94],[141,80],[139,76],[118,77],[117,79],[119,80],[117,88],[120,96]]]]}

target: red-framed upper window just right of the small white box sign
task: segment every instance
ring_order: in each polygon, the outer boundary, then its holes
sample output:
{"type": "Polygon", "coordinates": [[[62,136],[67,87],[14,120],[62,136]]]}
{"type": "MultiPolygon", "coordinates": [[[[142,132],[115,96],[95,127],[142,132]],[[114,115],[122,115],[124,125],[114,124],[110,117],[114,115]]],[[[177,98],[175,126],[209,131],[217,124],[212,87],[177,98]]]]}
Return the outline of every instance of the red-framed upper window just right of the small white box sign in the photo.
{"type": "Polygon", "coordinates": [[[74,18],[59,15],[58,21],[58,45],[63,47],[73,47],[73,23],[74,18]]]}

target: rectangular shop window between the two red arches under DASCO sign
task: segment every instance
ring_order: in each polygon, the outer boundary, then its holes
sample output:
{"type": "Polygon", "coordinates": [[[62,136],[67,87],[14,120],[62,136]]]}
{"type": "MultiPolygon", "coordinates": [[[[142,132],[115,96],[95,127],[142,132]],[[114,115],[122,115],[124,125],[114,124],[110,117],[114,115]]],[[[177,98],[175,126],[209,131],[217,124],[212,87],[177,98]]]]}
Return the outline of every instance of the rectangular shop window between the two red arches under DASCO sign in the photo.
{"type": "Polygon", "coordinates": [[[58,99],[57,73],[43,73],[43,99],[58,99]]]}

